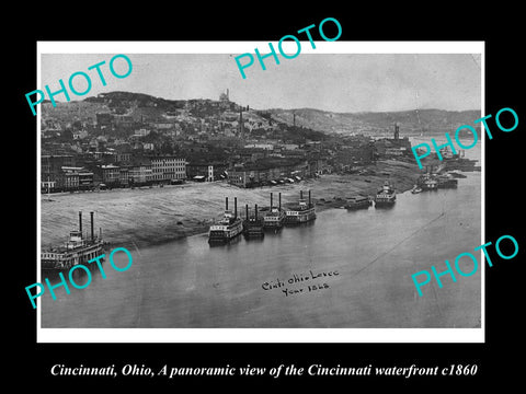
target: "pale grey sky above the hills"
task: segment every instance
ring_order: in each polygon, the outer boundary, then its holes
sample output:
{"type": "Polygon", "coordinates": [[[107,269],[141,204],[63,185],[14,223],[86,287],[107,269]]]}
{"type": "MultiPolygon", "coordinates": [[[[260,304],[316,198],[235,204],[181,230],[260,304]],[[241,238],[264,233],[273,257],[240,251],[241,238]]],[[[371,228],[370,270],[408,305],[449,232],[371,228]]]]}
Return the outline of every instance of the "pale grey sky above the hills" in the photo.
{"type": "MultiPolygon", "coordinates": [[[[268,53],[264,48],[262,54],[268,53]]],[[[249,50],[248,50],[249,51],[249,50]]],[[[316,54],[301,53],[294,59],[266,58],[263,70],[254,63],[241,77],[238,54],[126,54],[132,73],[114,78],[108,63],[114,54],[42,54],[41,88],[56,91],[58,80],[67,85],[77,71],[87,72],[92,88],[82,100],[99,93],[127,91],[168,100],[211,99],[229,90],[230,100],[251,108],[317,108],[338,113],[391,112],[438,108],[448,111],[481,107],[480,54],[316,54]],[[88,67],[105,60],[101,70],[88,67]]],[[[248,59],[242,59],[245,61],[248,59]]],[[[126,71],[123,59],[117,72],[126,71]]],[[[82,77],[75,86],[82,91],[82,77]]],[[[64,95],[56,100],[65,101],[64,95]]]]}

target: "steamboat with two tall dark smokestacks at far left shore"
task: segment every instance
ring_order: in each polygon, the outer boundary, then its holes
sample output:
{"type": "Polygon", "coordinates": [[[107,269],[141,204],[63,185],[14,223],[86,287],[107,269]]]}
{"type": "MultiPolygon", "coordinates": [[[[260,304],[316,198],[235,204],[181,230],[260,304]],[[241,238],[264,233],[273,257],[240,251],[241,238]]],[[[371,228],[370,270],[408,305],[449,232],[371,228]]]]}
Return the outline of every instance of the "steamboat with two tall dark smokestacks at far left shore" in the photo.
{"type": "MultiPolygon", "coordinates": [[[[101,256],[104,252],[104,241],[102,239],[102,230],[99,236],[95,236],[93,230],[93,212],[91,215],[91,236],[82,235],[82,212],[79,212],[79,230],[69,232],[68,241],[61,246],[50,247],[41,252],[41,270],[42,271],[61,271],[71,267],[85,264],[101,256]]],[[[104,260],[104,258],[101,258],[104,260]]]]}

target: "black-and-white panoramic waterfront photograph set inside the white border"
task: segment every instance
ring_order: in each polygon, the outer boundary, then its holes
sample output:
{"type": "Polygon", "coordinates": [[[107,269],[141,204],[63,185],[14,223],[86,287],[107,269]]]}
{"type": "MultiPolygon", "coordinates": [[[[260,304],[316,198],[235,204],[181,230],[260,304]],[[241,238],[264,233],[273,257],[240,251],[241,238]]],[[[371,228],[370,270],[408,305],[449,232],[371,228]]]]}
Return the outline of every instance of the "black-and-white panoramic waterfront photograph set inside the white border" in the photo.
{"type": "Polygon", "coordinates": [[[41,83],[89,90],[39,104],[44,333],[481,333],[477,260],[458,262],[469,276],[431,268],[446,271],[444,260],[483,243],[480,43],[437,53],[399,43],[410,54],[393,53],[397,43],[387,54],[318,43],[279,63],[267,57],[245,79],[240,53],[206,54],[206,44],[203,54],[127,55],[48,54],[44,44],[41,83]],[[456,132],[462,125],[474,134],[456,132]],[[129,254],[112,252],[121,247],[129,254]]]}

